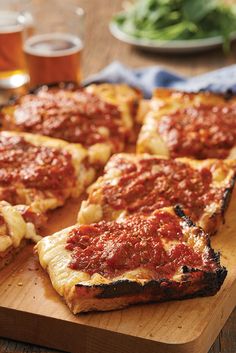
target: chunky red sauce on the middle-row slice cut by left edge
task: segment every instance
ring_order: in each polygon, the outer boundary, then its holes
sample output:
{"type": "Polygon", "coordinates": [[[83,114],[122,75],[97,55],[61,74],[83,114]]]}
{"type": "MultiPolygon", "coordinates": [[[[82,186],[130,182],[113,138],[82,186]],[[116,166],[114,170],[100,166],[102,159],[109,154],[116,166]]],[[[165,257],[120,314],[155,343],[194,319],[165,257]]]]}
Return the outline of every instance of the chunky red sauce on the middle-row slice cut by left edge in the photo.
{"type": "Polygon", "coordinates": [[[66,151],[0,134],[0,186],[10,188],[20,183],[27,188],[60,190],[75,182],[72,158],[66,151]]]}

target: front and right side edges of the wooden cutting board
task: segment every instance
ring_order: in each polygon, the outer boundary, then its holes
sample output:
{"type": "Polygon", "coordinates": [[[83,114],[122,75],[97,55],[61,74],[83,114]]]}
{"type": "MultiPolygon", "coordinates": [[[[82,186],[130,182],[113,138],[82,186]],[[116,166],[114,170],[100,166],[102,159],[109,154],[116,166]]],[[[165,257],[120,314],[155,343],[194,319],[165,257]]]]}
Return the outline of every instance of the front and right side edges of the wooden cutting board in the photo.
{"type": "MultiPolygon", "coordinates": [[[[44,347],[64,350],[66,352],[78,353],[76,341],[72,340],[68,346],[67,340],[66,342],[64,340],[58,341],[55,337],[52,339],[52,336],[57,330],[60,332],[63,329],[64,336],[65,334],[68,334],[70,337],[74,337],[75,340],[79,337],[78,333],[83,336],[85,335],[85,339],[80,340],[81,353],[99,352],[93,348],[91,350],[91,347],[97,346],[96,341],[100,342],[100,345],[102,345],[101,352],[104,353],[106,352],[107,344],[110,341],[113,341],[113,344],[116,344],[117,341],[117,353],[119,353],[120,341],[125,341],[127,346],[133,345],[133,348],[136,349],[137,353],[139,353],[139,351],[137,351],[137,344],[140,348],[142,348],[140,353],[150,352],[150,349],[152,349],[151,351],[153,353],[160,353],[163,349],[165,349],[165,353],[207,353],[231,312],[236,307],[235,295],[236,282],[234,283],[234,290],[230,293],[230,295],[227,295],[226,297],[228,298],[225,299],[226,301],[230,300],[230,306],[225,306],[227,310],[223,313],[217,313],[216,311],[217,315],[215,315],[214,320],[212,320],[213,323],[219,323],[218,328],[213,330],[211,325],[208,325],[197,337],[186,342],[158,342],[153,339],[66,321],[55,317],[37,315],[8,307],[0,307],[0,326],[3,328],[0,330],[0,336],[32,344],[38,344],[44,347]],[[218,317],[219,315],[220,317],[218,317]],[[48,325],[45,325],[45,320],[48,322],[48,325]],[[47,332],[48,326],[50,326],[50,332],[47,332]],[[15,329],[16,327],[17,329],[15,329]],[[38,332],[39,335],[35,336],[36,332],[38,332]],[[209,335],[209,332],[213,332],[213,335],[209,335]],[[105,342],[105,345],[103,342],[101,343],[101,341],[105,342]]],[[[109,349],[109,347],[107,348],[109,349]]],[[[109,352],[109,350],[107,352],[109,352]]],[[[116,350],[113,349],[113,352],[116,353],[116,350]]],[[[124,351],[124,353],[126,352],[124,351]]]]}

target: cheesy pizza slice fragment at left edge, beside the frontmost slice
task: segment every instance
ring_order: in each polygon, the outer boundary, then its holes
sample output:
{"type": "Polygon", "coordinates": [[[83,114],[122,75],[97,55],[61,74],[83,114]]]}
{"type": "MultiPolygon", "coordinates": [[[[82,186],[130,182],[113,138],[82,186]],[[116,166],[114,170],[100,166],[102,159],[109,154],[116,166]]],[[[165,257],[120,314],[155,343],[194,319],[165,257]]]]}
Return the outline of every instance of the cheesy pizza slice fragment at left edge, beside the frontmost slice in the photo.
{"type": "Polygon", "coordinates": [[[27,206],[0,201],[0,269],[14,258],[27,239],[34,242],[41,239],[35,229],[39,220],[40,215],[27,206]]]}

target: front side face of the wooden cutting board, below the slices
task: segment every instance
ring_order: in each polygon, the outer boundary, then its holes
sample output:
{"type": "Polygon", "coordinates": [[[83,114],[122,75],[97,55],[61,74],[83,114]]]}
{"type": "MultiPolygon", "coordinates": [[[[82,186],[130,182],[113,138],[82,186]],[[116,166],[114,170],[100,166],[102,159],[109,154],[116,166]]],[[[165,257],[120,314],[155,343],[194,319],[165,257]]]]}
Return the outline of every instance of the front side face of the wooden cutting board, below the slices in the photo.
{"type": "Polygon", "coordinates": [[[42,315],[37,315],[35,320],[35,314],[33,313],[4,307],[1,307],[0,310],[0,324],[1,327],[4,324],[4,328],[1,328],[0,331],[1,337],[71,353],[109,353],[111,348],[113,353],[120,353],[120,351],[122,353],[129,353],[132,349],[135,349],[136,353],[149,353],[150,351],[152,353],[161,353],[163,349],[165,353],[206,352],[205,350],[195,350],[195,340],[179,344],[157,342],[151,339],[81,325],[70,321],[67,322],[65,330],[64,320],[42,315]],[[19,314],[23,314],[23,317],[21,316],[20,319],[19,314]],[[48,325],[45,325],[45,318],[48,325]],[[19,320],[20,325],[18,325],[17,320],[19,320]],[[41,325],[41,323],[44,325],[41,325]],[[48,330],[48,326],[50,330],[48,330]],[[80,332],[78,332],[78,328],[80,332]],[[62,329],[63,334],[58,336],[60,340],[52,340],[55,332],[61,332],[62,329]],[[81,335],[83,335],[83,340],[80,339],[81,335]],[[70,342],[67,340],[68,337],[70,337],[70,342]],[[78,339],[80,345],[79,351],[77,346],[78,339]]]}

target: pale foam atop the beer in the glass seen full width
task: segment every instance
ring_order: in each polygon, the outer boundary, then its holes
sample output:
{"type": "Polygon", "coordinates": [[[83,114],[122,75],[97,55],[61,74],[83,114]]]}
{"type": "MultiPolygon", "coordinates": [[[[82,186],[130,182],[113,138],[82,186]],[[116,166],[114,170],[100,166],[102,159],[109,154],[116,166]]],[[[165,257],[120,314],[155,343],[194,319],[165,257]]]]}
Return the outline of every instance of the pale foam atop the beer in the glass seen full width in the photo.
{"type": "Polygon", "coordinates": [[[39,34],[28,38],[24,52],[34,56],[56,57],[75,54],[83,48],[80,38],[65,33],[39,34]]]}

